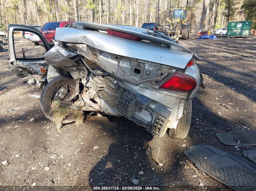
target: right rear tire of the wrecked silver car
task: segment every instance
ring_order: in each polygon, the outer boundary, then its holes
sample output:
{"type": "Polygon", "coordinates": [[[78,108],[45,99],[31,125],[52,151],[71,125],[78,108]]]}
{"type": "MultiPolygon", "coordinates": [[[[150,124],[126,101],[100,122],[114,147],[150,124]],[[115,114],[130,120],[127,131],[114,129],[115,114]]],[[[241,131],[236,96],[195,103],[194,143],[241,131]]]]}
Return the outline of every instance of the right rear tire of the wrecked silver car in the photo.
{"type": "Polygon", "coordinates": [[[179,119],[177,129],[168,129],[167,134],[171,138],[186,138],[191,123],[192,100],[187,103],[187,112],[179,119]]]}

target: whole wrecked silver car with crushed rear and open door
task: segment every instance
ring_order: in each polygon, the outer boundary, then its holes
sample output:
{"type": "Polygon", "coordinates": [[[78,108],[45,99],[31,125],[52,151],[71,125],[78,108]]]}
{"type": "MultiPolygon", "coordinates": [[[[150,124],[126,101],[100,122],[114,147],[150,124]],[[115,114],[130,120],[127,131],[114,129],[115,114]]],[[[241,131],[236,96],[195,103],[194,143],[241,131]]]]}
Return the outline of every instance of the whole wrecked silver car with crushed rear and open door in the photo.
{"type": "Polygon", "coordinates": [[[27,26],[9,25],[8,37],[10,70],[44,87],[41,108],[49,119],[50,104],[58,100],[61,107],[76,111],[126,117],[157,137],[165,132],[173,138],[187,136],[202,75],[194,63],[197,57],[169,37],[138,27],[87,22],[56,28],[52,49],[40,32],[27,26]],[[45,57],[16,59],[14,30],[37,34],[45,44],[45,57]]]}

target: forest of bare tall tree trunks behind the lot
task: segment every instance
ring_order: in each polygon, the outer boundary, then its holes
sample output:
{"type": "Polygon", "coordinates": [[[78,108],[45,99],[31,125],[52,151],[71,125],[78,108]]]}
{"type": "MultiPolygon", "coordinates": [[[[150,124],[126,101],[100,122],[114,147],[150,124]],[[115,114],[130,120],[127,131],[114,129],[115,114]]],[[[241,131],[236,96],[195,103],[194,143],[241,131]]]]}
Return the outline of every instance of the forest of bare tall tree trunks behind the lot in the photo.
{"type": "Polygon", "coordinates": [[[187,8],[191,32],[251,20],[256,28],[256,0],[1,0],[0,30],[8,24],[40,25],[51,21],[86,21],[141,27],[167,24],[172,8],[187,8]]]}

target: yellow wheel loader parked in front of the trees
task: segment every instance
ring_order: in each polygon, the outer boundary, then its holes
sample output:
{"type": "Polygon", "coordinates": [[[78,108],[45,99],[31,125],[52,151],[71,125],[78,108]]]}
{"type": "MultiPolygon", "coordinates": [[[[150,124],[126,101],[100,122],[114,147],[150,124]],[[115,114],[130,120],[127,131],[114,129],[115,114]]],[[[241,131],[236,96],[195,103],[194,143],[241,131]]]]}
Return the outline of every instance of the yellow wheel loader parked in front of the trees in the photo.
{"type": "Polygon", "coordinates": [[[165,24],[163,31],[168,37],[175,38],[176,41],[181,39],[188,39],[190,33],[190,23],[187,22],[187,9],[171,9],[171,19],[167,18],[169,24],[165,24]]]}

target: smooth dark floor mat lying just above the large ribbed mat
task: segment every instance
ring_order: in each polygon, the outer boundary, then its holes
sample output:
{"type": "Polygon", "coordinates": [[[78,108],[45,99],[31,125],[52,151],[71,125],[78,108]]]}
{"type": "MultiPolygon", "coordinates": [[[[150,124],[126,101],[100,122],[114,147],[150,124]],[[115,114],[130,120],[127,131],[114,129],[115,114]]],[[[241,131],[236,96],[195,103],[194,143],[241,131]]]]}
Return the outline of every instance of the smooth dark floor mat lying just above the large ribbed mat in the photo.
{"type": "Polygon", "coordinates": [[[256,145],[256,131],[230,131],[217,133],[218,139],[225,145],[252,146],[256,145]]]}

